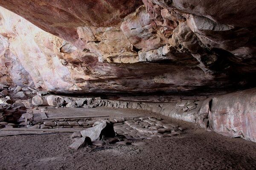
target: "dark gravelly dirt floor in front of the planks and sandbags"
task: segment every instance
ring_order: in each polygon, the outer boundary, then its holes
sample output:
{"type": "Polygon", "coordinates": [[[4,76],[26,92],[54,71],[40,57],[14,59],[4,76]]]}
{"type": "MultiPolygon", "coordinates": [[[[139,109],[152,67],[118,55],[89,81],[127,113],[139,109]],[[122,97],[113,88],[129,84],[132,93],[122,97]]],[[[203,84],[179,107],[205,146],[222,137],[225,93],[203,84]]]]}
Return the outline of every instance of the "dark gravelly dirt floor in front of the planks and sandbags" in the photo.
{"type": "Polygon", "coordinates": [[[186,134],[144,139],[148,143],[144,146],[109,144],[109,148],[93,152],[70,149],[72,133],[2,136],[0,170],[256,169],[256,143],[177,122],[189,128],[186,134]]]}

